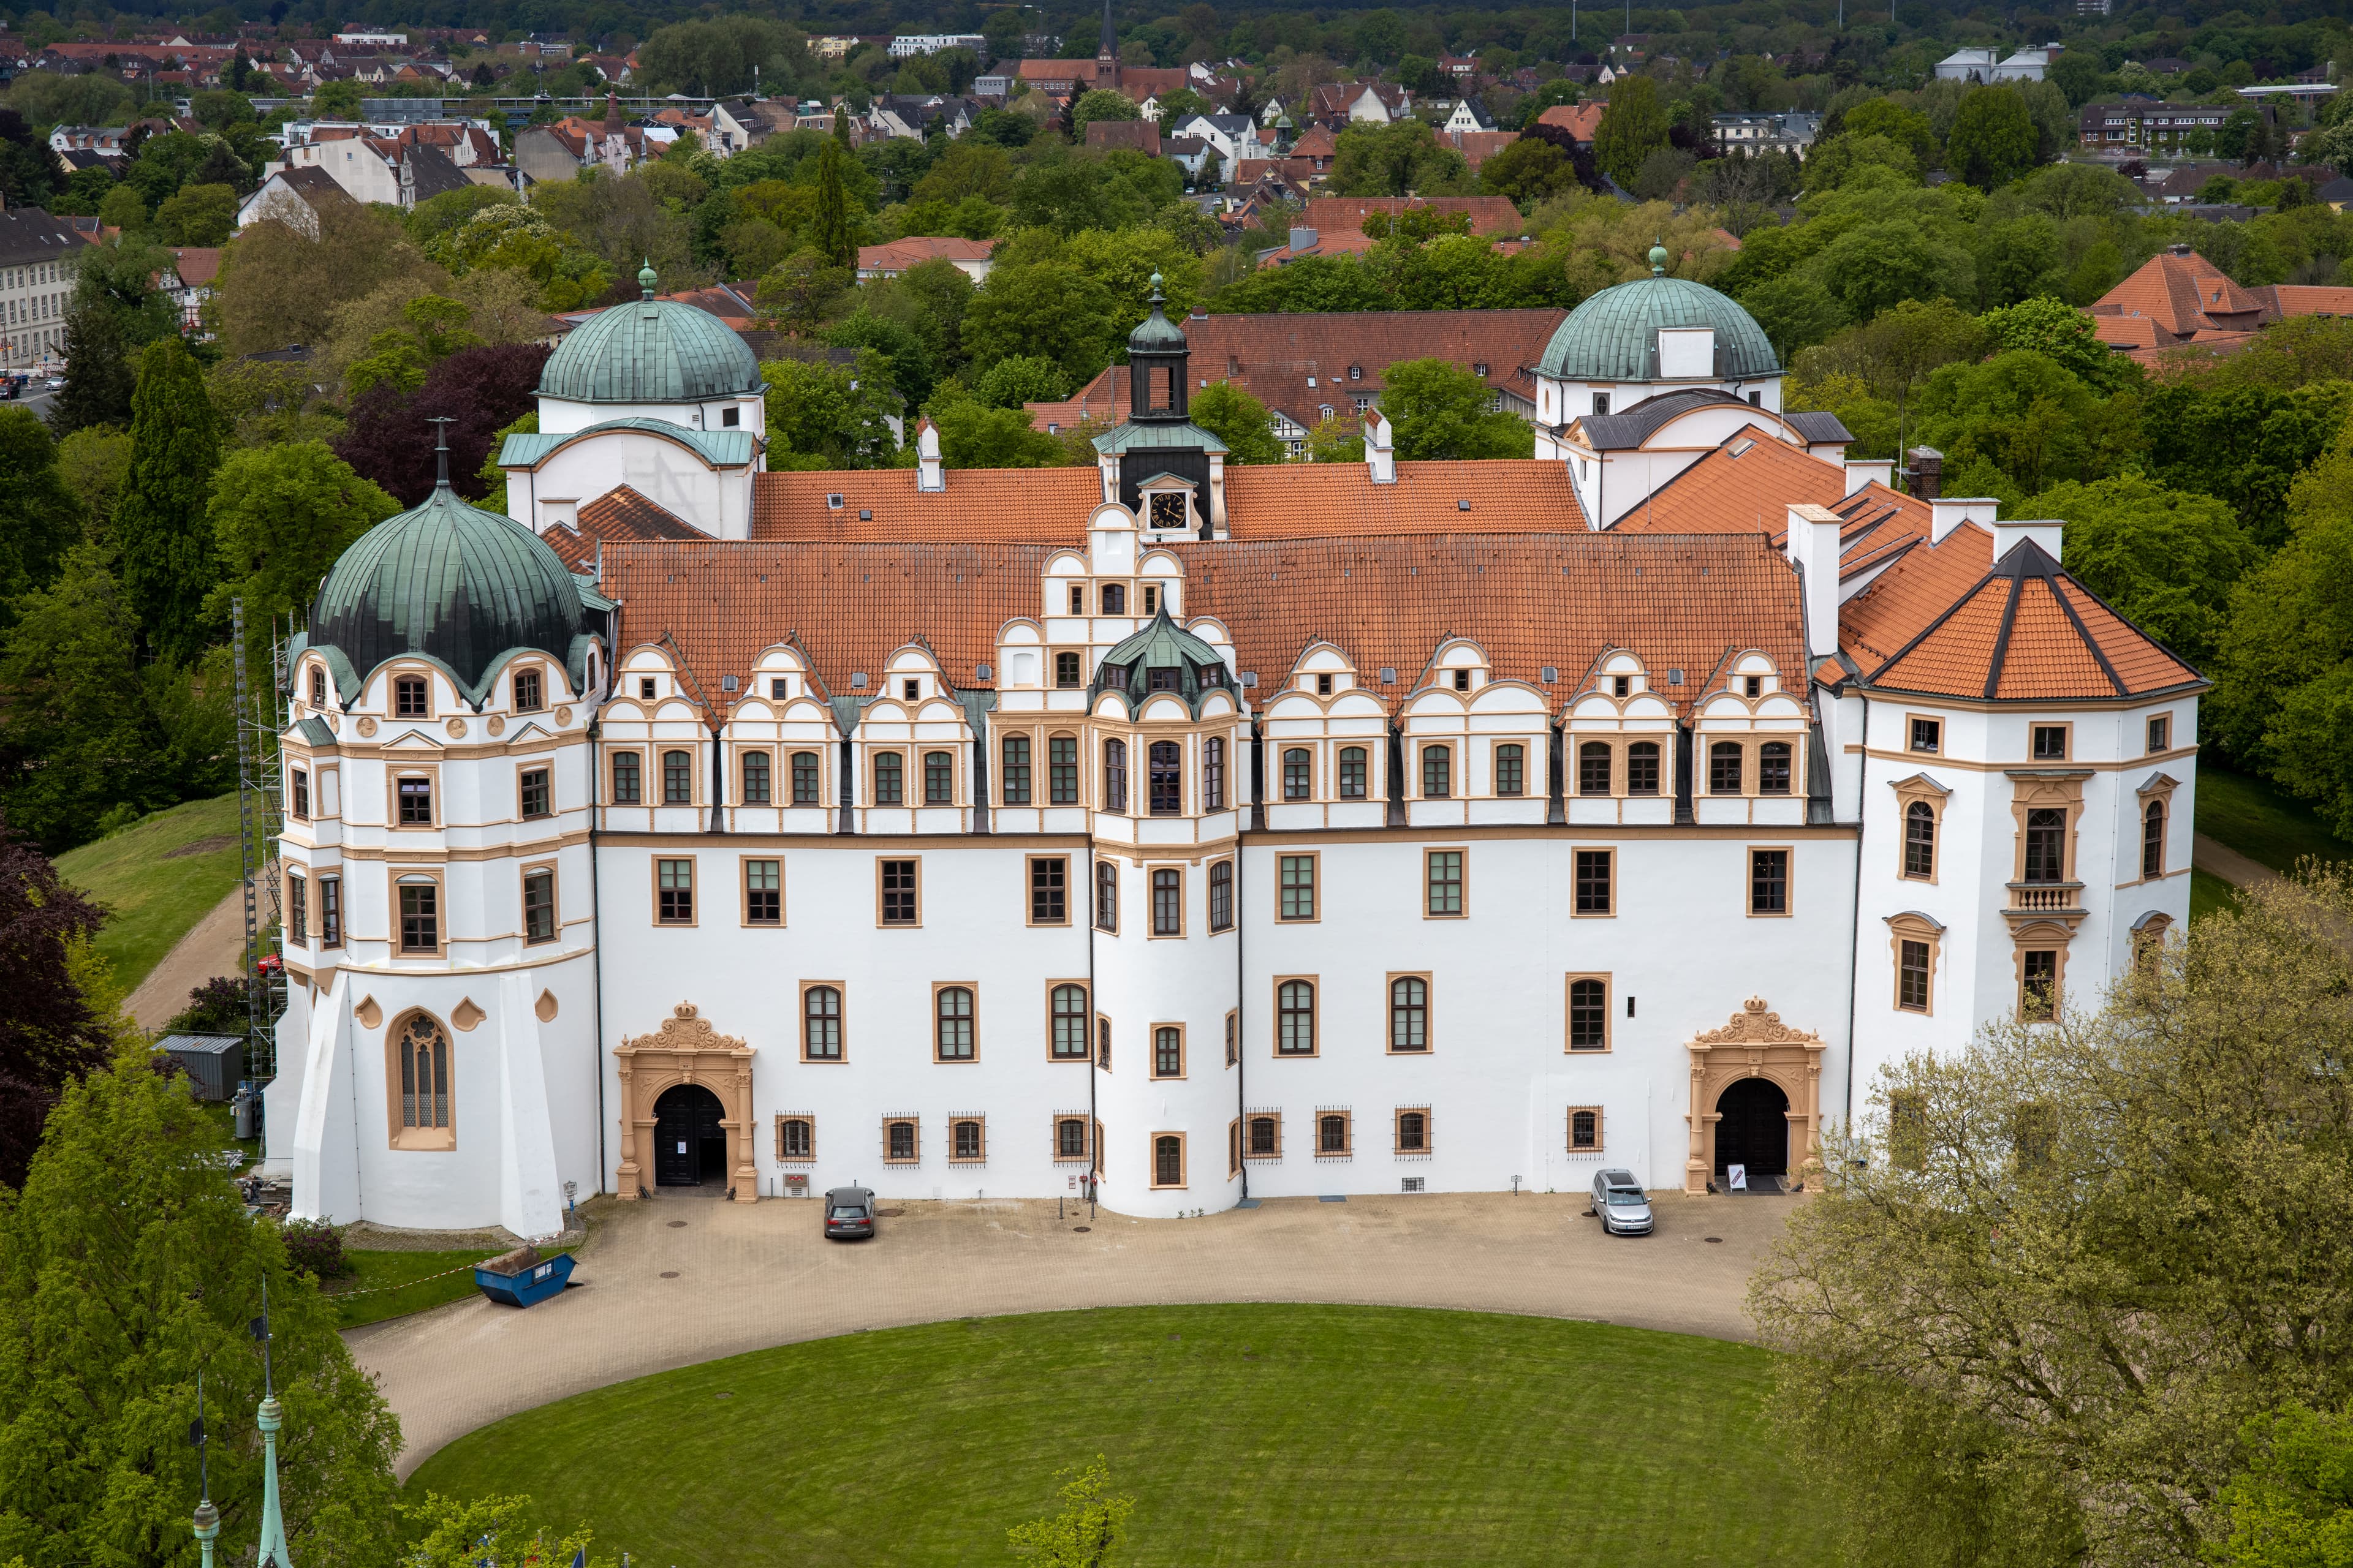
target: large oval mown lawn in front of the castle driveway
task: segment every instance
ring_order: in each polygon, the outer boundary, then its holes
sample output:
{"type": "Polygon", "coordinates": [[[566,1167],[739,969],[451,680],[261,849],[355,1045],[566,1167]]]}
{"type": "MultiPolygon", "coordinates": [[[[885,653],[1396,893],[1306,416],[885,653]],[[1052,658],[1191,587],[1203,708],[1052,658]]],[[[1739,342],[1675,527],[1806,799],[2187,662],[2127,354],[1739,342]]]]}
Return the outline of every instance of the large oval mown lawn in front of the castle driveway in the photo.
{"type": "Polygon", "coordinates": [[[513,1415],[409,1481],[532,1493],[645,1563],[1014,1563],[1108,1455],[1155,1563],[1812,1563],[1772,1356],[1384,1307],[965,1319],[706,1361],[513,1415]]]}

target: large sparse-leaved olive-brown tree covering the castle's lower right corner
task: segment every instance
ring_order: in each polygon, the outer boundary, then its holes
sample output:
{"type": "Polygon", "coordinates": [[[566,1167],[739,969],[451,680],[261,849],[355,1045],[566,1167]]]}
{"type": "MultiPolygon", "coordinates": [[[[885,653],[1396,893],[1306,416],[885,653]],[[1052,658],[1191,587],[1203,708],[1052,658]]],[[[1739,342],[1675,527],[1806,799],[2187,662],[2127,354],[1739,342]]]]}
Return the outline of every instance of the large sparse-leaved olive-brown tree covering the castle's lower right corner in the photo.
{"type": "Polygon", "coordinates": [[[1845,1561],[2188,1568],[2242,1422],[2344,1399],[2348,922],[2344,867],[2240,889],[1882,1070],[1748,1295],[1845,1561]]]}

